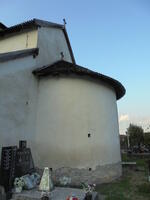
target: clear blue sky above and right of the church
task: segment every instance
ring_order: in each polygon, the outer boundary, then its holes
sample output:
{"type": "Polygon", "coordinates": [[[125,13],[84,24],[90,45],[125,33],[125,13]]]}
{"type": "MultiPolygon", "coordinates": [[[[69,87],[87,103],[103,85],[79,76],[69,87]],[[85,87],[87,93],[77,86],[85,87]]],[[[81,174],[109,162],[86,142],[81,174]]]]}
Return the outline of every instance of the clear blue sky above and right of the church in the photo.
{"type": "Polygon", "coordinates": [[[150,0],[0,0],[0,21],[67,21],[77,64],[119,80],[120,133],[129,123],[150,131],[150,0]]]}

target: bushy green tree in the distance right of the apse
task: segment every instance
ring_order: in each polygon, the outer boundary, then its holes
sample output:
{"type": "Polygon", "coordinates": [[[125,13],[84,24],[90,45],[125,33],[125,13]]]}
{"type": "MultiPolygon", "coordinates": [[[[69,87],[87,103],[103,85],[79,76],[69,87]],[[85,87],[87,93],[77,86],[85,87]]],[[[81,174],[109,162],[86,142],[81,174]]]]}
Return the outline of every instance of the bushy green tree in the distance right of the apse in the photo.
{"type": "Polygon", "coordinates": [[[144,143],[144,130],[141,126],[130,124],[126,132],[129,136],[130,146],[138,146],[140,148],[141,144],[144,143]]]}

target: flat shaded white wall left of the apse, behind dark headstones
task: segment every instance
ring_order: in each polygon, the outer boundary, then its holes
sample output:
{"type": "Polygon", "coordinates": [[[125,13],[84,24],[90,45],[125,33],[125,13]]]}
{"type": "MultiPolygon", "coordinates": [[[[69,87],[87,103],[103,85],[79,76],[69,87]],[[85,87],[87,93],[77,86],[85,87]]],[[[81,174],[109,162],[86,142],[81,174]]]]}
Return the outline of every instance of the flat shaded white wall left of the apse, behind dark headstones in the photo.
{"type": "MultiPolygon", "coordinates": [[[[38,80],[33,56],[0,63],[0,149],[27,140],[34,149],[38,80]]],[[[34,150],[33,150],[34,153],[34,150]]]]}

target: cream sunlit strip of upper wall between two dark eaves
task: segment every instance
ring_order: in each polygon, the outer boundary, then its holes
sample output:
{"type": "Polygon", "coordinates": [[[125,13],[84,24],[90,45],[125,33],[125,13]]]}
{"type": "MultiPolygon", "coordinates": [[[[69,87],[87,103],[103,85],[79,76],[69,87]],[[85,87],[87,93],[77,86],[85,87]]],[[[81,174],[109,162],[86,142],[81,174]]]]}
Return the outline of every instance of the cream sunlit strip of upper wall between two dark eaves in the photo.
{"type": "Polygon", "coordinates": [[[0,39],[0,53],[31,49],[37,47],[37,30],[16,33],[0,39]]]}

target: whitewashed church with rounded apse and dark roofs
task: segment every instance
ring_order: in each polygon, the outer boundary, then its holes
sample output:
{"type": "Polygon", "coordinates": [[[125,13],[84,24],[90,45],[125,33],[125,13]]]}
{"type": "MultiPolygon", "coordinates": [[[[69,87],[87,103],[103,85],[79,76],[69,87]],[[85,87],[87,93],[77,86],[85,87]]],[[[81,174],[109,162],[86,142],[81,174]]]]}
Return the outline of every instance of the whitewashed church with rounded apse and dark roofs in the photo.
{"type": "Polygon", "coordinates": [[[27,140],[36,166],[72,184],[119,177],[123,85],[76,64],[65,25],[0,28],[0,147],[27,140]]]}

